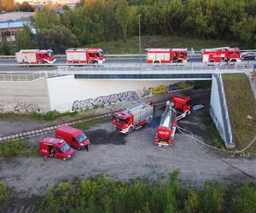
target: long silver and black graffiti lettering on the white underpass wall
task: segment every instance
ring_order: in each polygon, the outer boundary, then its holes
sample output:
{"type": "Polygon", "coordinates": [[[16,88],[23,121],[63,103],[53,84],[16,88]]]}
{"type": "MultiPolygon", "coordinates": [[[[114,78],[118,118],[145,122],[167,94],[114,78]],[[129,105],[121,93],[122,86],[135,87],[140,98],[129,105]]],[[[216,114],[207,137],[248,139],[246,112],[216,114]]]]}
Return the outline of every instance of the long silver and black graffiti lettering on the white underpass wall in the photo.
{"type": "Polygon", "coordinates": [[[100,96],[96,99],[86,99],[84,101],[74,101],[73,111],[80,111],[95,106],[106,106],[112,103],[118,103],[122,101],[133,101],[137,100],[139,96],[136,91],[128,91],[113,95],[100,96]]]}

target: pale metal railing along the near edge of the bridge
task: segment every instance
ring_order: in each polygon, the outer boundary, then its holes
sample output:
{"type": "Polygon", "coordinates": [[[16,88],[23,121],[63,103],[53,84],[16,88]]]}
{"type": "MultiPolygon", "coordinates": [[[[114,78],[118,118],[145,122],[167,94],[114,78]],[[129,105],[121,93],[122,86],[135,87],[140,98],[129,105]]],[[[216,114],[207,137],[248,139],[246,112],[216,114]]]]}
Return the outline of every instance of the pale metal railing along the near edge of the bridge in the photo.
{"type": "MultiPolygon", "coordinates": [[[[59,66],[48,71],[12,71],[0,73],[0,81],[33,81],[37,78],[49,78],[63,75],[88,75],[89,78],[109,76],[111,78],[171,78],[173,74],[185,74],[188,77],[198,74],[252,72],[253,65],[235,66],[59,66]]],[[[181,77],[184,78],[184,77],[181,77]]]]}

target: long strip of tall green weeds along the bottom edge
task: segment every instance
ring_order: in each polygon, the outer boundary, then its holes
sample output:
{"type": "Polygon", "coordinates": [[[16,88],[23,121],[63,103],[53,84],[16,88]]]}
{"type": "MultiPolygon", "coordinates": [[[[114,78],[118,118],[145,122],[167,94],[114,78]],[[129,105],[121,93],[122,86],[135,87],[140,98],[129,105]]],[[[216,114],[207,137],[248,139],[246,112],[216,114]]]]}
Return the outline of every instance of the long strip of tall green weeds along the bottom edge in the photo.
{"type": "Polygon", "coordinates": [[[62,181],[49,187],[39,212],[254,212],[256,184],[201,187],[177,183],[178,170],[167,181],[110,181],[106,176],[62,181]]]}

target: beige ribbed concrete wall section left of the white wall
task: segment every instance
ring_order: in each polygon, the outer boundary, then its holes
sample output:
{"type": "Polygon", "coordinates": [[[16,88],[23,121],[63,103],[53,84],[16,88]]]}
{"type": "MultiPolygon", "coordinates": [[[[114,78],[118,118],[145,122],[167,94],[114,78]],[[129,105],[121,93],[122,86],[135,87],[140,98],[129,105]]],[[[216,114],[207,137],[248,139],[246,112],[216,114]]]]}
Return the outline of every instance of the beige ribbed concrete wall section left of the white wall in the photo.
{"type": "Polygon", "coordinates": [[[47,80],[0,82],[0,100],[0,112],[47,112],[50,110],[47,80]]]}

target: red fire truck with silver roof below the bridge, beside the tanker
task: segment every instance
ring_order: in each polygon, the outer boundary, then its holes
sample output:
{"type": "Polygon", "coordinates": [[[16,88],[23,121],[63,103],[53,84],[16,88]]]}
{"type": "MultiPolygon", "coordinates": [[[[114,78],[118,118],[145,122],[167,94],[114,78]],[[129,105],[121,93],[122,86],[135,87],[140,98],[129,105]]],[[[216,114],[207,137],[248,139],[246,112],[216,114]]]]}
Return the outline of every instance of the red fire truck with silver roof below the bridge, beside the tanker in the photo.
{"type": "Polygon", "coordinates": [[[150,103],[140,103],[124,111],[114,112],[112,123],[115,130],[124,134],[130,134],[133,130],[138,130],[144,124],[150,123],[153,116],[154,107],[150,103]]]}

